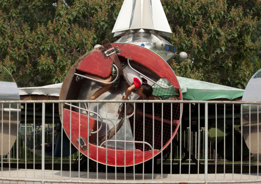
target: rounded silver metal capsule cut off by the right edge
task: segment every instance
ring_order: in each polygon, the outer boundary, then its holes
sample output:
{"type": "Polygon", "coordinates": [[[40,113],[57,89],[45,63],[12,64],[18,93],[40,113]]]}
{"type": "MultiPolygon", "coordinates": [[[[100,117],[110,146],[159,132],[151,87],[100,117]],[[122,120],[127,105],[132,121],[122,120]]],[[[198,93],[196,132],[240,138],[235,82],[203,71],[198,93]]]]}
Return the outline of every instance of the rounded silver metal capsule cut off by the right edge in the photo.
{"type": "MultiPolygon", "coordinates": [[[[251,78],[245,89],[242,101],[261,101],[261,78],[251,78]]],[[[261,159],[261,105],[243,104],[243,136],[252,155],[261,159]],[[258,107],[259,106],[259,107],[258,107]],[[257,107],[259,112],[257,112],[257,107]],[[259,121],[257,121],[259,118],[259,121]],[[259,129],[258,129],[259,125],[259,129]],[[257,136],[259,135],[259,139],[257,136]],[[258,146],[259,145],[259,146],[258,146]]]]}

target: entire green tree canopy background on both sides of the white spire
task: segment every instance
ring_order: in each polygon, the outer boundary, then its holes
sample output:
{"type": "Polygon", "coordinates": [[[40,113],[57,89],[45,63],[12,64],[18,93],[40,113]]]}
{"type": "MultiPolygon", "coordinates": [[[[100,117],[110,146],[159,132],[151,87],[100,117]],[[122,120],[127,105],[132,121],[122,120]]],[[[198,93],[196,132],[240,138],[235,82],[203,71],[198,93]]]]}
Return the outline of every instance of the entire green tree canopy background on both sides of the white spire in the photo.
{"type": "MultiPolygon", "coordinates": [[[[105,38],[118,39],[111,30],[122,3],[0,1],[0,65],[19,87],[63,82],[83,54],[105,38]]],[[[173,32],[168,40],[189,54],[183,62],[173,59],[176,75],[245,88],[260,64],[261,0],[161,3],[173,32]]]]}

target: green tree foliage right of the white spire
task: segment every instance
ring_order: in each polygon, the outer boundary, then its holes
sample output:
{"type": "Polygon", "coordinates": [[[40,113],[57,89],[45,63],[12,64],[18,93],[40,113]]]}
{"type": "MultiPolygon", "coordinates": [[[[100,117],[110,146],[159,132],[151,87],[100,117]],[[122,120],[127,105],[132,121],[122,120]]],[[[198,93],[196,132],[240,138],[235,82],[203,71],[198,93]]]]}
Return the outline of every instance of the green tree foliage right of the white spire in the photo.
{"type": "Polygon", "coordinates": [[[245,88],[253,75],[251,42],[261,13],[260,0],[162,1],[172,27],[170,42],[189,57],[178,58],[177,75],[226,86],[245,88]]]}

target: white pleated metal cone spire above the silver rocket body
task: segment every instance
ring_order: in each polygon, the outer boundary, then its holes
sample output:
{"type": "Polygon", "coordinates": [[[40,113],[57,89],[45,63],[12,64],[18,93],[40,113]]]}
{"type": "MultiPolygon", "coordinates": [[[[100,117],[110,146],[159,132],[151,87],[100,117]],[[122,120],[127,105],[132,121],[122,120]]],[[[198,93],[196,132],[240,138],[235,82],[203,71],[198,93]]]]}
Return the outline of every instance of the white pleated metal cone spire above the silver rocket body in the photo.
{"type": "Polygon", "coordinates": [[[171,33],[160,0],[125,0],[112,32],[131,29],[149,29],[171,33]]]}

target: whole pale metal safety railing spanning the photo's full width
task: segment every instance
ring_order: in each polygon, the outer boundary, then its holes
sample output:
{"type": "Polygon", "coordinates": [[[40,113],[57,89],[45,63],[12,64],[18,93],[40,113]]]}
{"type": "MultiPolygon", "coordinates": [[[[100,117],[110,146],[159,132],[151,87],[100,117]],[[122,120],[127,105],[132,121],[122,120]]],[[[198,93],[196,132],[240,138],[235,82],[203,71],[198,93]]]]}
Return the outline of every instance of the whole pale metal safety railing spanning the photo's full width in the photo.
{"type": "Polygon", "coordinates": [[[125,102],[0,101],[0,179],[42,183],[261,182],[261,103],[128,100],[134,104],[134,113],[128,117],[125,102]],[[95,109],[79,110],[81,103],[90,102],[95,109]],[[101,103],[107,107],[105,115],[99,112],[101,103]],[[125,115],[119,118],[120,103],[125,105],[125,115]],[[164,104],[173,110],[177,103],[182,104],[180,116],[167,115],[164,104]],[[6,108],[6,104],[21,104],[22,108],[6,108]],[[12,119],[20,111],[24,111],[21,117],[12,119]],[[173,118],[175,124],[163,121],[173,122],[173,118]],[[118,122],[121,126],[116,127],[118,122]]]}

